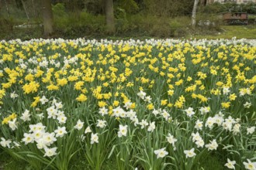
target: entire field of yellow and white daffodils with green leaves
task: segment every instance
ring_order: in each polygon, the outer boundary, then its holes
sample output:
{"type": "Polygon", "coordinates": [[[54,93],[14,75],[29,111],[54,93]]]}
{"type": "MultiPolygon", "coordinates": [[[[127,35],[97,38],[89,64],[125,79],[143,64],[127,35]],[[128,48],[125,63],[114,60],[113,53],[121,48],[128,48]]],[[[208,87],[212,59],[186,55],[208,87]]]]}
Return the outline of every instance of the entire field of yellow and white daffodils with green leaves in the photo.
{"type": "Polygon", "coordinates": [[[0,151],[32,169],[256,169],[256,41],[0,42],[0,151]]]}

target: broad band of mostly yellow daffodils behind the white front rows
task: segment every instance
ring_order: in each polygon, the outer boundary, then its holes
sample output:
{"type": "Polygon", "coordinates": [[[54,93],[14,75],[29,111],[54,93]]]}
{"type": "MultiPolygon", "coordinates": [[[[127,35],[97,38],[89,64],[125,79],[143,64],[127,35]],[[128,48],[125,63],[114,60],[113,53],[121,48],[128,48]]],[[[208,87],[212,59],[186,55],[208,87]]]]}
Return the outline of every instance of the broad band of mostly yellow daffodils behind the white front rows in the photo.
{"type": "MultiPolygon", "coordinates": [[[[99,107],[112,103],[108,100],[116,100],[120,92],[125,95],[124,92],[138,87],[161,86],[168,96],[160,93],[159,104],[177,108],[184,107],[188,97],[207,103],[212,95],[220,95],[223,87],[232,88],[234,83],[250,93],[254,90],[255,46],[244,42],[217,46],[206,42],[196,45],[154,41],[140,45],[57,40],[0,42],[1,63],[5,66],[0,70],[0,104],[16,84],[24,94],[42,90],[64,93],[68,89],[69,93],[77,94],[73,99],[79,102],[92,95],[99,100],[99,107]]],[[[230,102],[237,99],[236,93],[228,99],[221,104],[223,108],[230,107],[230,102]]],[[[32,106],[36,106],[36,101],[32,106]]],[[[154,106],[148,104],[147,108],[152,110],[154,106]]]]}

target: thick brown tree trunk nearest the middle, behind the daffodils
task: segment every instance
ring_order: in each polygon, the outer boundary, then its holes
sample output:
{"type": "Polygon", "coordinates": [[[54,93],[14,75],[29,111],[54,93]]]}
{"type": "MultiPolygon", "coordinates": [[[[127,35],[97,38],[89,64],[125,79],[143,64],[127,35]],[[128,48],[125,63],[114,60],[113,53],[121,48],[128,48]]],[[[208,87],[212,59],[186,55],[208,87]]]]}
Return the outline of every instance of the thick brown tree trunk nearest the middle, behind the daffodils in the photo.
{"type": "Polygon", "coordinates": [[[115,28],[115,18],[112,0],[105,0],[105,10],[106,10],[106,28],[107,32],[113,33],[116,31],[115,28]]]}

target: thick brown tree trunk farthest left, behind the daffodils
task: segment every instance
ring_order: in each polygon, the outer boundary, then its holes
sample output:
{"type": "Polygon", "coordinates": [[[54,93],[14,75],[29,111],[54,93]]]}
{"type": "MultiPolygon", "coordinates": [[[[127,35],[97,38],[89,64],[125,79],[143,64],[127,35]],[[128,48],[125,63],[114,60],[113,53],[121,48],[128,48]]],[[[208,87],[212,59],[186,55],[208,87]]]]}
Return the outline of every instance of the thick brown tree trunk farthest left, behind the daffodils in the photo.
{"type": "Polygon", "coordinates": [[[43,34],[48,37],[53,32],[54,15],[51,9],[50,0],[42,0],[43,5],[43,34]]]}

